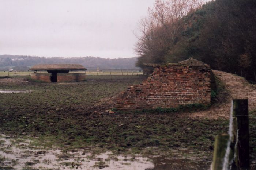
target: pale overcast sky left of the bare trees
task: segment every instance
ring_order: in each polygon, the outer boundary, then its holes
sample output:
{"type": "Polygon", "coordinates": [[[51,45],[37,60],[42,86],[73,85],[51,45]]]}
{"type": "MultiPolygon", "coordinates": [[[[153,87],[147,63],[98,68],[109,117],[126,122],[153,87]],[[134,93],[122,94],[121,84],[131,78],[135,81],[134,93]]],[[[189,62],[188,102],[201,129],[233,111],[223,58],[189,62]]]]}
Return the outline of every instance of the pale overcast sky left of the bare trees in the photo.
{"type": "Polygon", "coordinates": [[[134,57],[154,0],[0,0],[0,54],[134,57]]]}

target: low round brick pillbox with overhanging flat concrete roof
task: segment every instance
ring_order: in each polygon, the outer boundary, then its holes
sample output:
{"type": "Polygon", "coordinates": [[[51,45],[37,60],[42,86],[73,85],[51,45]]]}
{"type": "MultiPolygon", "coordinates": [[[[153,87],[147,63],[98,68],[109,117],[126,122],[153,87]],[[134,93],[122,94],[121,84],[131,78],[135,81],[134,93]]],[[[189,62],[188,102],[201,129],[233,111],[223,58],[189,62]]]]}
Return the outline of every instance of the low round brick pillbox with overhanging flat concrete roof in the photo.
{"type": "Polygon", "coordinates": [[[69,71],[85,71],[87,70],[80,64],[38,64],[29,70],[35,71],[31,73],[33,80],[41,80],[45,82],[69,82],[84,81],[86,73],[69,73],[69,71]],[[47,71],[47,73],[37,73],[37,71],[47,71]]]}

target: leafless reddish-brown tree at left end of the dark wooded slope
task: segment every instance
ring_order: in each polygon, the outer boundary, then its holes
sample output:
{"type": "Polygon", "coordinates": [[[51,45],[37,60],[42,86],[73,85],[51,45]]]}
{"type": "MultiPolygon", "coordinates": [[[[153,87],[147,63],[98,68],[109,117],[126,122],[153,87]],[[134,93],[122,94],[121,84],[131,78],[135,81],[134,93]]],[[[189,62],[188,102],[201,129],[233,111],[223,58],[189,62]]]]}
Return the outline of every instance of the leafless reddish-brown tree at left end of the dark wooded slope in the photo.
{"type": "Polygon", "coordinates": [[[143,61],[163,63],[187,24],[189,12],[200,7],[200,0],[156,0],[148,8],[148,16],[140,20],[142,35],[138,38],[135,52],[140,56],[137,66],[143,61]]]}

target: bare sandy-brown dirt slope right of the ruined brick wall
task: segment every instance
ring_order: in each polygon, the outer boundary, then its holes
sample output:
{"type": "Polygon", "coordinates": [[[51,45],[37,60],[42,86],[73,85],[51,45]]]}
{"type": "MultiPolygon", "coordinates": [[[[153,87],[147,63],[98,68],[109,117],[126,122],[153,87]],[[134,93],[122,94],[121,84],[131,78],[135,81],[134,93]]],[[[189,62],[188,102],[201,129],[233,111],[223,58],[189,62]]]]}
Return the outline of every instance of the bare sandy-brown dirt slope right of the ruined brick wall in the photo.
{"type": "Polygon", "coordinates": [[[249,99],[249,111],[256,109],[256,87],[248,83],[243,77],[222,71],[212,70],[217,78],[223,82],[227,90],[224,102],[212,106],[209,110],[189,113],[192,117],[207,117],[228,119],[232,99],[249,99]]]}

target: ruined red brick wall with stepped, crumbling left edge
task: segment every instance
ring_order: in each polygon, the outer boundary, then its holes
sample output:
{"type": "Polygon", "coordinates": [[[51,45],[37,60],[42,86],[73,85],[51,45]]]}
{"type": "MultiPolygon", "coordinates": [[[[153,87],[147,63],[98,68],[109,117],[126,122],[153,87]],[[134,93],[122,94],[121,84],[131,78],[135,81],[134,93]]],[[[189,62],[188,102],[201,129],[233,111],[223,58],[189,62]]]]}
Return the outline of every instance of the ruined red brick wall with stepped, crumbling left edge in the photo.
{"type": "Polygon", "coordinates": [[[211,73],[207,65],[156,66],[141,84],[128,86],[115,108],[170,108],[192,103],[210,104],[211,73]]]}

